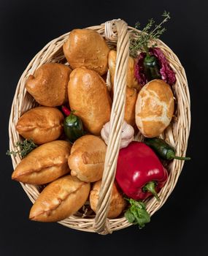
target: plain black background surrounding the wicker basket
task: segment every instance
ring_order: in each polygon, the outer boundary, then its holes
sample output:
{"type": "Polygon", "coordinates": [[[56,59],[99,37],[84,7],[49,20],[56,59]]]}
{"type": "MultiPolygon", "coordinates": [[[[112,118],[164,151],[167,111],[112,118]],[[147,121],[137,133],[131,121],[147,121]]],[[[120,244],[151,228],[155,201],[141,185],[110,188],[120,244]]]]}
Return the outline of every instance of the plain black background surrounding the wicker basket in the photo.
{"type": "Polygon", "coordinates": [[[207,211],[207,4],[206,1],[0,1],[1,168],[0,255],[208,255],[207,211]],[[163,10],[172,19],[162,39],[179,56],[188,76],[192,124],[188,153],[177,186],[142,230],[100,236],[56,223],[28,220],[31,202],[11,181],[8,121],[15,87],[28,62],[47,42],[74,28],[123,18],[129,26],[163,10]]]}

